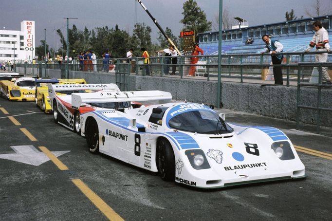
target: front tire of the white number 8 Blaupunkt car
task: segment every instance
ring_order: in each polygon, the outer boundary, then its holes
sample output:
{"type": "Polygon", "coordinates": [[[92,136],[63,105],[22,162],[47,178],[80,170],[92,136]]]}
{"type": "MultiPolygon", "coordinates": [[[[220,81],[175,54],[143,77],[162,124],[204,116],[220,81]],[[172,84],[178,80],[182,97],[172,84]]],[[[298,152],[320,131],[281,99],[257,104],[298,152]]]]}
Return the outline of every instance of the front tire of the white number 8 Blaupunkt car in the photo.
{"type": "Polygon", "coordinates": [[[156,161],[160,178],[164,181],[174,181],[175,157],[173,149],[166,139],[158,142],[156,161]]]}

